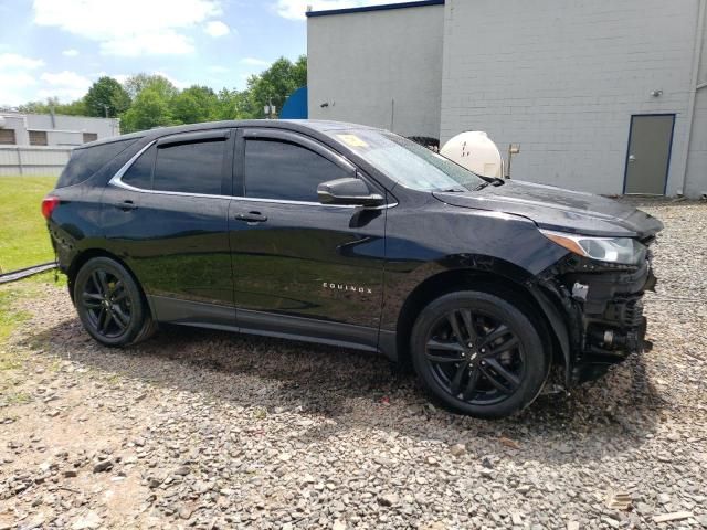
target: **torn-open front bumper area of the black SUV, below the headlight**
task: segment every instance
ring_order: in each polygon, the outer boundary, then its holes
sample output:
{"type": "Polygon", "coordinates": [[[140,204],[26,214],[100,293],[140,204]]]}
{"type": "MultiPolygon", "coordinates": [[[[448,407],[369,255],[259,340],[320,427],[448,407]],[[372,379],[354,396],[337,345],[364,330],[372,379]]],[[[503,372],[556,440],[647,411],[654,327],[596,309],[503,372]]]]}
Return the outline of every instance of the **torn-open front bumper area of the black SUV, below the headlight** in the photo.
{"type": "Polygon", "coordinates": [[[561,306],[567,325],[568,384],[597,379],[631,353],[651,349],[643,295],[656,282],[650,255],[637,267],[571,256],[545,276],[540,285],[561,306]]]}

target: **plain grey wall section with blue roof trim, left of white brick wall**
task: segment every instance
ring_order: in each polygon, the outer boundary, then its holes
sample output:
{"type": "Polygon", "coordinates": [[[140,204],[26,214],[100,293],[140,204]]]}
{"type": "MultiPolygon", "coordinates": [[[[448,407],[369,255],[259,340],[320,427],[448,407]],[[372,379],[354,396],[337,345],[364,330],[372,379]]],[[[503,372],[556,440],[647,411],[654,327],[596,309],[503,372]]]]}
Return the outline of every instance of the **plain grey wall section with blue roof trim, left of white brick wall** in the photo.
{"type": "Polygon", "coordinates": [[[439,138],[443,18],[443,6],[309,17],[309,118],[439,138]]]}

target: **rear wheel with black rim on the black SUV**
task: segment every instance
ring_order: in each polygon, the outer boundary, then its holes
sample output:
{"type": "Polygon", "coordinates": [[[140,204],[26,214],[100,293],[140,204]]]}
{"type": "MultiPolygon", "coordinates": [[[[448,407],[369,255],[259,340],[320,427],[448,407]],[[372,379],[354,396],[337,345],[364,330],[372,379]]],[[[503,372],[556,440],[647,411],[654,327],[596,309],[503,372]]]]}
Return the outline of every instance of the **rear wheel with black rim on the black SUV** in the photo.
{"type": "Polygon", "coordinates": [[[135,344],[157,328],[133,275],[109,257],[94,257],[81,267],[74,305],[84,329],[104,346],[135,344]]]}

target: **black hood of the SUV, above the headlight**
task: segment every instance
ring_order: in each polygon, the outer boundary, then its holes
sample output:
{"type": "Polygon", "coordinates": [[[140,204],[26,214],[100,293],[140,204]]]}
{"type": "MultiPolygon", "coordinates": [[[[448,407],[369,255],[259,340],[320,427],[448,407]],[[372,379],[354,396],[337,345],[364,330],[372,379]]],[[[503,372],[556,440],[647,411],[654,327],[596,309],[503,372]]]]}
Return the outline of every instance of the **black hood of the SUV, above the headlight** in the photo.
{"type": "Polygon", "coordinates": [[[478,191],[434,192],[447,204],[521,215],[539,227],[584,235],[648,237],[663,223],[641,210],[592,193],[506,180],[478,191]]]}

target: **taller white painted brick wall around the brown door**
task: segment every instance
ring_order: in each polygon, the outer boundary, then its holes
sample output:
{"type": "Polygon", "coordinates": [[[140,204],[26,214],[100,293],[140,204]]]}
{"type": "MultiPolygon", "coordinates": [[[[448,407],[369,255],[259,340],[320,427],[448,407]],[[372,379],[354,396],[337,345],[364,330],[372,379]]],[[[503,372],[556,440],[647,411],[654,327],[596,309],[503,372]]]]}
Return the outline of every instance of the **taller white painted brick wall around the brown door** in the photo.
{"type": "MultiPolygon", "coordinates": [[[[442,141],[486,130],[502,151],[521,145],[514,178],[621,193],[631,115],[675,113],[667,193],[676,193],[698,3],[446,0],[442,141]]],[[[707,182],[706,97],[703,89],[690,187],[707,182]]]]}

